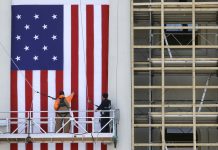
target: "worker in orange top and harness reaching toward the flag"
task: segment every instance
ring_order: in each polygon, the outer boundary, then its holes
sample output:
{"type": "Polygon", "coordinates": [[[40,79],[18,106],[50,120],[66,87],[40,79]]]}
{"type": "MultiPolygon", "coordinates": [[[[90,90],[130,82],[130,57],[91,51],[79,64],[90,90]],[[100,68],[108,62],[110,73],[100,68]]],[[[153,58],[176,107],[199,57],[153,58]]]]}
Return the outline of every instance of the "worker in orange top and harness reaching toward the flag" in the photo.
{"type": "Polygon", "coordinates": [[[62,123],[64,123],[63,132],[69,133],[70,125],[71,125],[71,121],[69,121],[71,117],[69,109],[73,96],[74,96],[74,92],[72,92],[69,96],[65,97],[64,91],[60,91],[58,98],[55,100],[54,109],[55,111],[57,111],[56,112],[57,118],[55,119],[56,121],[55,132],[57,132],[62,127],[62,123]]]}

